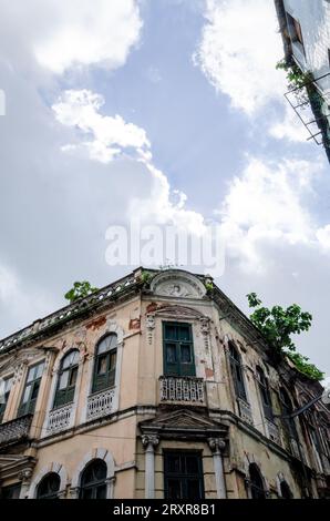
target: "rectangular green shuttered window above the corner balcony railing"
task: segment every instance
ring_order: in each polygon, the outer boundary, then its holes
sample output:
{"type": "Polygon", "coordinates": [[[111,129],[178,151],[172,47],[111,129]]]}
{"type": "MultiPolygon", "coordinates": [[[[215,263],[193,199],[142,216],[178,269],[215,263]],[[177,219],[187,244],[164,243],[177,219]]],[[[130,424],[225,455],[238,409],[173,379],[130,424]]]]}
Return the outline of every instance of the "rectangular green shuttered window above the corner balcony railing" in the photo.
{"type": "Polygon", "coordinates": [[[190,324],[163,323],[165,376],[196,376],[190,324]]]}

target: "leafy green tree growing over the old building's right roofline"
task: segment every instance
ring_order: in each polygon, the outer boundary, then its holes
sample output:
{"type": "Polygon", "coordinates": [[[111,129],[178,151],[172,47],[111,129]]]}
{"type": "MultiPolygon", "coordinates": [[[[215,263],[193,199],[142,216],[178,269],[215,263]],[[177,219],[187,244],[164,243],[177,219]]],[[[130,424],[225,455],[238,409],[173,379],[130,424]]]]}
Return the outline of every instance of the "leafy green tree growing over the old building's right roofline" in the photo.
{"type": "Polygon", "coordinates": [[[288,356],[298,370],[314,380],[321,380],[323,374],[309,362],[309,358],[296,351],[291,339],[291,335],[300,335],[301,331],[309,330],[312,321],[311,314],[302,311],[297,304],[292,304],[287,309],[281,306],[264,307],[256,293],[247,295],[247,299],[249,307],[256,308],[250,315],[251,323],[260,330],[275,353],[288,356]]]}

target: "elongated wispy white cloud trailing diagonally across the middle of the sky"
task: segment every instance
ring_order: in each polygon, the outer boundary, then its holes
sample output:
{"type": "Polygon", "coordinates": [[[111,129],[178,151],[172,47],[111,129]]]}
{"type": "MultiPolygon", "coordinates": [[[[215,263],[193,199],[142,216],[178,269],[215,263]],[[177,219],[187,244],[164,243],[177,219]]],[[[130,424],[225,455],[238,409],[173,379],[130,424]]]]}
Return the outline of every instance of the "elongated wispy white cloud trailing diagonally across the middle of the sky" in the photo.
{"type": "Polygon", "coordinates": [[[151,178],[151,192],[145,198],[132,198],[130,216],[153,224],[171,223],[190,233],[203,234],[203,215],[186,210],[186,195],[172,191],[166,175],[153,164],[151,142],[144,129],[126,123],[120,115],[102,115],[103,104],[100,94],[87,90],[65,91],[60,96],[52,108],[58,121],[79,131],[78,144],[66,144],[62,150],[74,154],[83,151],[91,160],[105,164],[122,155],[143,163],[151,178]]]}

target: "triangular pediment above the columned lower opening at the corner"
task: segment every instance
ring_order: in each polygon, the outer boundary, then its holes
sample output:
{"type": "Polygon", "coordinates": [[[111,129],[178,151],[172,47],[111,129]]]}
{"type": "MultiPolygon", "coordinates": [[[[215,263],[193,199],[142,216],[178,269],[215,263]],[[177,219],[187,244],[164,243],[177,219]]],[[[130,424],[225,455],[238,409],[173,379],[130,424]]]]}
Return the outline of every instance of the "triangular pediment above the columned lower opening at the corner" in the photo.
{"type": "Polygon", "coordinates": [[[161,412],[151,420],[140,423],[143,433],[155,433],[163,438],[207,438],[225,437],[227,427],[205,415],[188,409],[161,412]]]}

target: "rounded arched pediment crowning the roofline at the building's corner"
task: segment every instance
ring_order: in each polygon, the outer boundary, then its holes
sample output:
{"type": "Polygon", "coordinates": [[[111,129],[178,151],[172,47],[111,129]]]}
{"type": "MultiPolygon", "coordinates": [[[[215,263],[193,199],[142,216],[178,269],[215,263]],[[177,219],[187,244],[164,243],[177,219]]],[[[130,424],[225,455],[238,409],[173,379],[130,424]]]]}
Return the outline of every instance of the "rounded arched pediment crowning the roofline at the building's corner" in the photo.
{"type": "Polygon", "coordinates": [[[151,290],[172,298],[203,298],[206,295],[204,284],[181,269],[168,269],[156,275],[152,280],[151,290]]]}

